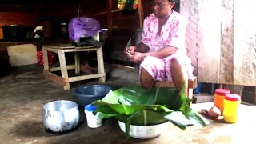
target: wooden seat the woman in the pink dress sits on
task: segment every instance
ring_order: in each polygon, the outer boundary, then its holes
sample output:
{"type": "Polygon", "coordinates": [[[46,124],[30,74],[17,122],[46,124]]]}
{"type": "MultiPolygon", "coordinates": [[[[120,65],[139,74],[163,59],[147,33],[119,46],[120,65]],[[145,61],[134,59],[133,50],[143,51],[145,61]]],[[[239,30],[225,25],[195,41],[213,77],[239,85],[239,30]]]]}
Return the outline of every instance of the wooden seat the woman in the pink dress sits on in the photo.
{"type": "MultiPolygon", "coordinates": [[[[192,99],[193,98],[193,89],[197,86],[198,79],[197,77],[189,79],[188,88],[186,91],[186,97],[192,99]]],[[[168,80],[165,82],[156,82],[155,87],[174,87],[173,83],[169,83],[168,80]]]]}

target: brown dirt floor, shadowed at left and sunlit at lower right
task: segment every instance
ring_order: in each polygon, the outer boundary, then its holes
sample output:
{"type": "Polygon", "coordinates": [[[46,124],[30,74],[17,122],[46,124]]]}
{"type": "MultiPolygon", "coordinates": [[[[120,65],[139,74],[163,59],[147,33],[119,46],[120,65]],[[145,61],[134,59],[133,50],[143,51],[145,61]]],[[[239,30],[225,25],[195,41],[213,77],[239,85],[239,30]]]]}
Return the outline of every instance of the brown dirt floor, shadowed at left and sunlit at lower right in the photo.
{"type": "MultiPolygon", "coordinates": [[[[74,82],[74,87],[98,83],[98,80],[74,82]]],[[[138,85],[138,74],[134,71],[115,69],[107,84],[119,88],[138,85]]],[[[42,123],[42,106],[54,100],[75,101],[72,90],[63,90],[62,86],[43,78],[42,67],[26,66],[12,74],[0,78],[0,143],[255,143],[254,125],[256,107],[242,105],[241,118],[236,124],[226,124],[223,120],[210,121],[204,129],[196,126],[186,131],[170,124],[168,130],[158,138],[126,141],[125,134],[118,127],[114,118],[107,119],[97,129],[86,126],[85,114],[81,110],[81,123],[78,130],[60,136],[47,134],[42,123]],[[251,132],[249,132],[249,130],[251,132]]],[[[195,110],[210,108],[213,103],[193,105],[195,110]]]]}

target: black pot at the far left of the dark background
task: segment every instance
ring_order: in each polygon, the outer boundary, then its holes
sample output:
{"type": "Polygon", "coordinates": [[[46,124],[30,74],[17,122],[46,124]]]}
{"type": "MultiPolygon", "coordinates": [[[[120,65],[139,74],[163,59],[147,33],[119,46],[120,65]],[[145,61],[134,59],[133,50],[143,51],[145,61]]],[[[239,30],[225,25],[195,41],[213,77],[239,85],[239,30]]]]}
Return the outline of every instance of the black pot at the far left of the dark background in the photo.
{"type": "Polygon", "coordinates": [[[17,39],[25,38],[25,29],[23,26],[10,25],[2,26],[3,38],[5,39],[17,39]]]}

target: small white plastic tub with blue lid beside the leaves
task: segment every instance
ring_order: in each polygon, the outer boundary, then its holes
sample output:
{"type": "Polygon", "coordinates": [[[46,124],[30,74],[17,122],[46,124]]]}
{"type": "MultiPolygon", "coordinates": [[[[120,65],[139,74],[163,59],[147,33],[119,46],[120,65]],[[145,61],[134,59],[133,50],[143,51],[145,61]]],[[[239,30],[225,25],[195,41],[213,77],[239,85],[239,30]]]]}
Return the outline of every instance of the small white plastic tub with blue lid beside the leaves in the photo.
{"type": "Polygon", "coordinates": [[[85,107],[87,126],[90,128],[98,128],[102,126],[100,113],[97,113],[96,115],[93,114],[94,110],[96,109],[97,109],[97,106],[92,106],[91,104],[86,105],[85,107]]]}

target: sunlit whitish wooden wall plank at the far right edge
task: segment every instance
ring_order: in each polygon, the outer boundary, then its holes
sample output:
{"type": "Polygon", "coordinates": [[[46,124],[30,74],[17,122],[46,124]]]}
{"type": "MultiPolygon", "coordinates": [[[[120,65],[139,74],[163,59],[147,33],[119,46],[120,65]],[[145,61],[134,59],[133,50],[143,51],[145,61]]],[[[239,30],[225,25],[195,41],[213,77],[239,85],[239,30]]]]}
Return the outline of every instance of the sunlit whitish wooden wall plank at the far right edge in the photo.
{"type": "Polygon", "coordinates": [[[234,1],[234,84],[256,86],[256,1],[234,1]],[[250,15],[251,14],[251,15],[250,15]]]}

